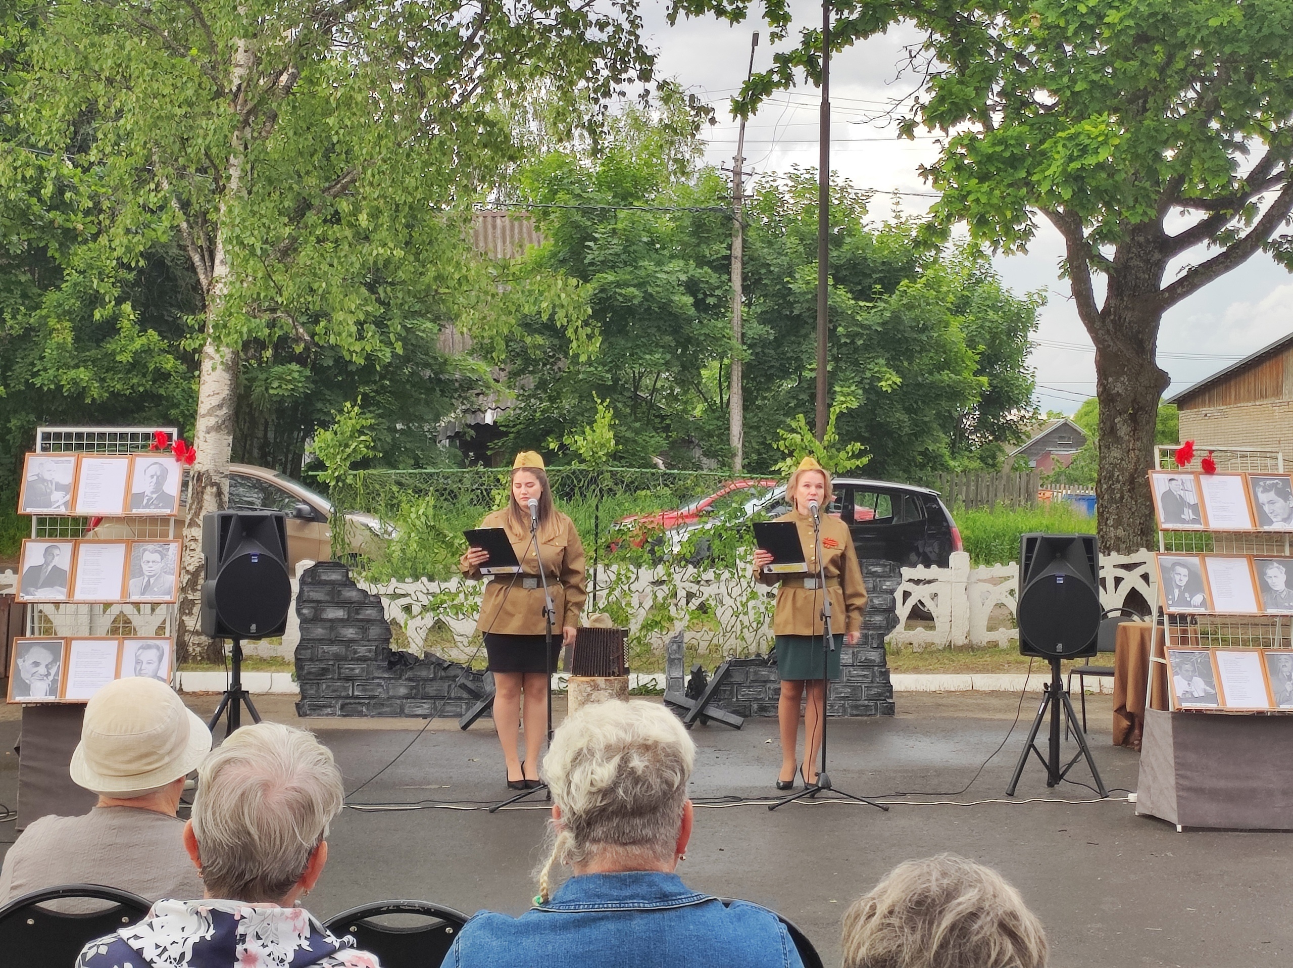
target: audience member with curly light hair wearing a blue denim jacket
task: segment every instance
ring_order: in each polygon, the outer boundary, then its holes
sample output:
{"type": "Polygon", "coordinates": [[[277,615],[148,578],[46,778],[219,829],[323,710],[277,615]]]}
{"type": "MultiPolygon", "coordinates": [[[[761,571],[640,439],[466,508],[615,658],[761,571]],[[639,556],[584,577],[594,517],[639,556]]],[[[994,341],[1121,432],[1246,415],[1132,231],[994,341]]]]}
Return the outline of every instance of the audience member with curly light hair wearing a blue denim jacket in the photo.
{"type": "Polygon", "coordinates": [[[445,968],[800,968],[773,914],[724,907],[674,872],[692,836],[694,758],[678,717],[654,703],[609,700],[570,716],[543,760],[553,842],[535,907],[477,914],[445,968]],[[557,863],[574,876],[553,894],[557,863]]]}

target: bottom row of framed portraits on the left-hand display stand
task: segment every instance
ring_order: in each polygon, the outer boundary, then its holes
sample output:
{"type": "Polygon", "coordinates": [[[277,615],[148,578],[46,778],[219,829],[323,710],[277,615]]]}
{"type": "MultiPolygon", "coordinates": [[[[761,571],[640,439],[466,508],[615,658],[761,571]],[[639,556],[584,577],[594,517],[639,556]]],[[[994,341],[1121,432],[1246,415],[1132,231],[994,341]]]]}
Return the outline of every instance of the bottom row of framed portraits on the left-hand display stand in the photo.
{"type": "Polygon", "coordinates": [[[169,682],[175,642],[159,637],[31,637],[13,642],[10,703],[85,703],[112,679],[169,682]]]}

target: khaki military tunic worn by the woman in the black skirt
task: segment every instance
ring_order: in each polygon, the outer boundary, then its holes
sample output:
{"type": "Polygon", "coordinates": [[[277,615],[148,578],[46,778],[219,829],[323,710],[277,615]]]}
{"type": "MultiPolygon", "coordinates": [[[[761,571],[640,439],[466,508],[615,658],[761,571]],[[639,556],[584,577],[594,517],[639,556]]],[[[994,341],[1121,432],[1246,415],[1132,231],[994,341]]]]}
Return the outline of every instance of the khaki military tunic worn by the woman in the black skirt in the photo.
{"type": "MultiPolygon", "coordinates": [[[[458,567],[468,578],[487,577],[481,600],[481,617],[476,622],[480,632],[502,635],[542,635],[547,632],[543,619],[543,585],[538,581],[539,563],[534,556],[529,527],[517,528],[507,510],[485,515],[482,528],[503,528],[516,559],[520,575],[482,576],[480,568],[467,564],[467,555],[458,567]],[[526,581],[529,578],[529,581],[526,581]],[[526,588],[533,585],[533,588],[526,588]]],[[[574,523],[560,511],[556,519],[539,527],[539,549],[552,595],[552,629],[560,635],[562,626],[578,626],[579,612],[588,597],[584,585],[583,542],[574,523]]],[[[487,563],[486,563],[487,564],[487,563]]]]}

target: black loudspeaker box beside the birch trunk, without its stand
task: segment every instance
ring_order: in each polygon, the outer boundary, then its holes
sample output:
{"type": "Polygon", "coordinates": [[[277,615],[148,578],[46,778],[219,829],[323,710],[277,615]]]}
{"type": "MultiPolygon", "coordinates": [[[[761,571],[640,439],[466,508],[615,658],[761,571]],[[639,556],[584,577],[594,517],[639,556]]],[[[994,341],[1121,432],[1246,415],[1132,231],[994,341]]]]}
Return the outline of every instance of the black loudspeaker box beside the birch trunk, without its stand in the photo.
{"type": "Polygon", "coordinates": [[[217,511],[202,518],[202,632],[212,638],[269,638],[287,629],[287,516],[217,511]]]}

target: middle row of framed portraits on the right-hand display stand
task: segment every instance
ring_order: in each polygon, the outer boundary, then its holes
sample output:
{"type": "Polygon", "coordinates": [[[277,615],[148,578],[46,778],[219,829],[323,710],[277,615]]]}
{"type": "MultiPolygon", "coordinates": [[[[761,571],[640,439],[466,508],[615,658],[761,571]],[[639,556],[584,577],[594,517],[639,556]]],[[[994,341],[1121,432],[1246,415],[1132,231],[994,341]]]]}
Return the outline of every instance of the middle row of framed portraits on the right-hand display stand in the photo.
{"type": "Polygon", "coordinates": [[[1165,612],[1293,615],[1293,558],[1160,553],[1165,612]]]}

